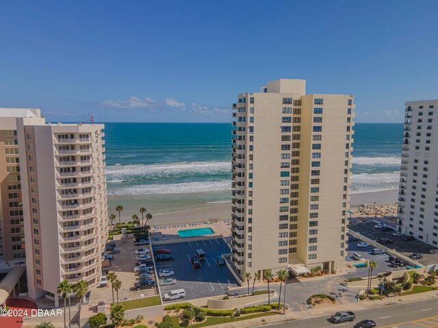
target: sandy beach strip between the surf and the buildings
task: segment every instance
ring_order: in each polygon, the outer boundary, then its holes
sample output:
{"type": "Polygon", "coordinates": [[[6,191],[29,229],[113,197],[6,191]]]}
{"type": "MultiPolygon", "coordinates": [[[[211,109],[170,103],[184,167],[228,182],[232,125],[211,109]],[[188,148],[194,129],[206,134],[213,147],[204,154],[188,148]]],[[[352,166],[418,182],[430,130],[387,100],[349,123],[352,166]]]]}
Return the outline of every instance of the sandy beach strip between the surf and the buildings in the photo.
{"type": "MultiPolygon", "coordinates": [[[[374,202],[376,204],[394,204],[397,202],[397,198],[398,189],[370,191],[366,193],[350,193],[350,208],[357,208],[357,206],[361,204],[373,205],[374,202]]],[[[147,202],[142,200],[141,197],[138,197],[138,195],[136,195],[136,197],[108,197],[108,213],[114,213],[116,215],[116,220],[114,220],[114,222],[118,222],[118,213],[116,213],[115,210],[112,210],[112,208],[115,208],[116,204],[120,204],[124,206],[123,212],[120,213],[120,219],[122,222],[131,221],[131,215],[133,214],[137,214],[141,220],[142,217],[138,209],[144,206],[148,208],[147,212],[153,215],[153,218],[148,222],[149,226],[231,219],[231,202],[199,202],[190,205],[184,204],[183,206],[168,207],[166,204],[163,206],[154,206],[154,204],[146,203],[147,202]],[[157,212],[159,210],[164,210],[164,213],[156,213],[156,209],[157,212]]]]}

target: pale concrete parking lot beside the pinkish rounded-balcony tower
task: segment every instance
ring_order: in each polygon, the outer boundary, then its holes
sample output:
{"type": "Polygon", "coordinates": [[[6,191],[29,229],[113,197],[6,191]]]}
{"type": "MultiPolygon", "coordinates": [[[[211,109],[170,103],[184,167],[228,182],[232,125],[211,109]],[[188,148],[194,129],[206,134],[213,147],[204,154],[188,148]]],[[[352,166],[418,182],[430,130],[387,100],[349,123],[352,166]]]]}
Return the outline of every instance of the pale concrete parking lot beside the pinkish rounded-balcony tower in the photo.
{"type": "MultiPolygon", "coordinates": [[[[156,288],[143,289],[140,291],[134,290],[133,285],[138,282],[138,273],[133,272],[134,263],[136,261],[136,254],[134,251],[140,248],[147,248],[149,246],[134,246],[133,238],[123,238],[120,241],[114,241],[116,247],[114,248],[111,267],[103,268],[103,270],[114,271],[117,279],[122,282],[122,287],[118,291],[119,301],[123,299],[135,299],[138,297],[147,297],[157,295],[156,288]]],[[[149,247],[150,250],[150,247],[149,247]]],[[[92,290],[90,295],[92,300],[96,301],[112,301],[111,283],[107,283],[107,287],[99,287],[92,290]]],[[[114,292],[114,297],[116,293],[114,292]]]]}

